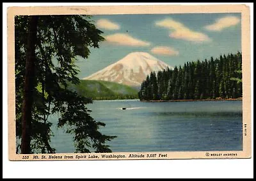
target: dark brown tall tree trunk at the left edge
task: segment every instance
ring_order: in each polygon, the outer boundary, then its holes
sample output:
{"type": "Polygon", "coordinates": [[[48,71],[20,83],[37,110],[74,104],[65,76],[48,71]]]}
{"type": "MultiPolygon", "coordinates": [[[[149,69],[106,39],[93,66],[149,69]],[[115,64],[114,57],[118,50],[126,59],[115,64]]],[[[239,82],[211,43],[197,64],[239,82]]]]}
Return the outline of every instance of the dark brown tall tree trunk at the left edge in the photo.
{"type": "Polygon", "coordinates": [[[31,153],[31,122],[33,105],[33,88],[35,87],[35,49],[36,49],[36,31],[38,16],[29,17],[28,22],[28,44],[26,50],[26,72],[24,82],[24,100],[22,104],[22,138],[21,153],[31,153]]]}

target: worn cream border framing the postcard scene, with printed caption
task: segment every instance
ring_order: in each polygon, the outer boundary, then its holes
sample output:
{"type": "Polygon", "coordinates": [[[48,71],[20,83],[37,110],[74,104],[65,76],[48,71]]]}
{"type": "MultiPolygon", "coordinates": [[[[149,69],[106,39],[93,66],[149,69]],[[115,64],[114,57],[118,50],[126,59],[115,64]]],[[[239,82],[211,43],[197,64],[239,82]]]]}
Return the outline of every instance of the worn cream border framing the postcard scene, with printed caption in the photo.
{"type": "Polygon", "coordinates": [[[250,72],[250,9],[244,4],[232,5],[132,5],[132,6],[30,6],[9,7],[8,14],[8,157],[10,161],[49,160],[128,160],[128,159],[238,159],[250,158],[251,143],[251,72],[250,72]],[[16,154],[15,138],[15,15],[111,15],[164,13],[241,13],[243,71],[243,150],[204,152],[113,152],[16,154]],[[147,157],[156,154],[155,157],[147,157]],[[105,155],[105,156],[103,156],[105,155]]]}

